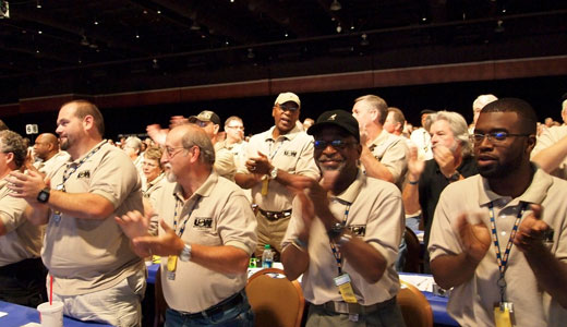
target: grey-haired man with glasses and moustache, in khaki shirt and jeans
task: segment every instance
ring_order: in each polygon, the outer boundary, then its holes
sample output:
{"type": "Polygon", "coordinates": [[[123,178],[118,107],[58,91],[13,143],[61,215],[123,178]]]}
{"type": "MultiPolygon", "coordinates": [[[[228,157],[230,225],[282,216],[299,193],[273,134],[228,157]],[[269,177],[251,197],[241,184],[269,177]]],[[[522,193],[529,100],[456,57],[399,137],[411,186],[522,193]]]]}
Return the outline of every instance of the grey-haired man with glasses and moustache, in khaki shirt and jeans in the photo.
{"type": "Polygon", "coordinates": [[[256,222],[244,193],[213,169],[213,144],[195,125],[169,132],[161,161],[170,183],[157,202],[159,235],[147,235],[140,213],[117,221],[138,255],[161,255],[166,325],[251,326],[244,287],[256,222]]]}

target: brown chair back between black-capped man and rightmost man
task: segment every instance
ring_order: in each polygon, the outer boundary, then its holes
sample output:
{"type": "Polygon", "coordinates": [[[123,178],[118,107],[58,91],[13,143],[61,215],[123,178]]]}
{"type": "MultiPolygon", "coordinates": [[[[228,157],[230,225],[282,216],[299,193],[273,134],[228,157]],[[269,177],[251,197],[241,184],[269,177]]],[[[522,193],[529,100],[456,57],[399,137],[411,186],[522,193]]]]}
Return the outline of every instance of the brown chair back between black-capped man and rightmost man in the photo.
{"type": "Polygon", "coordinates": [[[430,302],[414,286],[400,281],[398,305],[408,327],[432,327],[433,312],[430,302]]]}

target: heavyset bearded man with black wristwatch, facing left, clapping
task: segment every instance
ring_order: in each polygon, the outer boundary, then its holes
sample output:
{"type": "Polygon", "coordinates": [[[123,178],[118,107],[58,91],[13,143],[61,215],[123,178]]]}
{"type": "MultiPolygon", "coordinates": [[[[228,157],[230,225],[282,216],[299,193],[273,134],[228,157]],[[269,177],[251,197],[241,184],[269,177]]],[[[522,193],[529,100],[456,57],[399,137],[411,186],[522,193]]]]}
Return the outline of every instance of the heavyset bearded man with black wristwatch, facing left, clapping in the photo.
{"type": "Polygon", "coordinates": [[[32,171],[9,179],[12,195],[28,203],[27,218],[47,223],[41,258],[53,277],[53,300],[82,320],[137,326],[145,266],[114,221],[143,210],[137,171],[102,140],[102,116],[88,101],[63,105],[57,133],[71,158],[48,175],[50,184],[32,171]]]}

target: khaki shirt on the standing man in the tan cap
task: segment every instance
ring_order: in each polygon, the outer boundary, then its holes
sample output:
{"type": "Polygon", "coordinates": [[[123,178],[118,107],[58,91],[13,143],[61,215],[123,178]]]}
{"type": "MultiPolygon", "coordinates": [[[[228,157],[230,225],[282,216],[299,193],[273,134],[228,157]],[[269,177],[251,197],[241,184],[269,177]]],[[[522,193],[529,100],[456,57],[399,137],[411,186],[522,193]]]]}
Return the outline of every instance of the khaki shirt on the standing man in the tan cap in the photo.
{"type": "MultiPolygon", "coordinates": [[[[289,173],[319,178],[319,170],[313,159],[313,137],[297,126],[278,140],[272,136],[275,126],[250,138],[246,147],[246,160],[258,157],[258,152],[268,157],[272,165],[289,173]]],[[[250,173],[245,167],[239,173],[250,173]]],[[[269,181],[267,195],[262,195],[262,184],[252,187],[252,198],[262,209],[282,211],[291,208],[293,193],[277,181],[269,181]]]]}

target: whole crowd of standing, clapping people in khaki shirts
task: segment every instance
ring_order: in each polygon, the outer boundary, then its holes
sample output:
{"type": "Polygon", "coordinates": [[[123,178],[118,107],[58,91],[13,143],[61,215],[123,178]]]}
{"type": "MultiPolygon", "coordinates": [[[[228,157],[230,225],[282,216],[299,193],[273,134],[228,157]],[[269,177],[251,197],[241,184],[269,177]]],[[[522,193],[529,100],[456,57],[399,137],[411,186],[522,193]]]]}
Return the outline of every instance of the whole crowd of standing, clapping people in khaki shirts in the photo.
{"type": "Polygon", "coordinates": [[[405,233],[423,231],[459,325],[567,319],[567,98],[563,123],[492,94],[470,124],[424,109],[413,128],[376,95],[303,122],[291,92],[270,109],[251,137],[204,110],[114,143],[86,100],[33,145],[0,121],[0,300],[140,326],[157,255],[167,326],[253,326],[246,269],[269,245],[306,326],[405,326],[405,233]]]}

